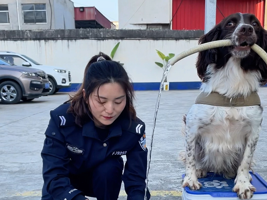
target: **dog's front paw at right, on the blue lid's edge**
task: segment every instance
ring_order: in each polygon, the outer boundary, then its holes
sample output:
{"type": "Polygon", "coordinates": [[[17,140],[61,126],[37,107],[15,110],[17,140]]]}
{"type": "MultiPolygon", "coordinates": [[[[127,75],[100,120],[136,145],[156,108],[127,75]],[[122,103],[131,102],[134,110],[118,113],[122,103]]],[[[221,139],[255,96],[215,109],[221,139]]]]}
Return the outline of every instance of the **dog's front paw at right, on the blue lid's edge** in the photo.
{"type": "Polygon", "coordinates": [[[237,181],[233,191],[237,193],[239,199],[251,199],[256,188],[249,181],[237,181]]]}

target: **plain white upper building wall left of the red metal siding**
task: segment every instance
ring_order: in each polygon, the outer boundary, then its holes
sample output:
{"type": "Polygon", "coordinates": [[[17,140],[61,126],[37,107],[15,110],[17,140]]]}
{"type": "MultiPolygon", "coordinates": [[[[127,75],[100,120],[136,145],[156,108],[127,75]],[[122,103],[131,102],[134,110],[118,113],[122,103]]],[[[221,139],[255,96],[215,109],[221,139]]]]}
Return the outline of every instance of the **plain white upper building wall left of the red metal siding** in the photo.
{"type": "Polygon", "coordinates": [[[146,29],[146,24],[167,24],[171,21],[171,2],[171,0],[118,0],[119,28],[146,29]]]}

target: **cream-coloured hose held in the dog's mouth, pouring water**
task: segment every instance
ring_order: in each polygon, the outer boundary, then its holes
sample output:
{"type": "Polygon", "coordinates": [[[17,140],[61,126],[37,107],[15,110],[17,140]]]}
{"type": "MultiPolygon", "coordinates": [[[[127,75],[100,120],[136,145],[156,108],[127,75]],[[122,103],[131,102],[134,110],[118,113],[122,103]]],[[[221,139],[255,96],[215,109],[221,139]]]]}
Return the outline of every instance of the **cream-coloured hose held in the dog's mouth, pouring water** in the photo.
{"type": "MultiPolygon", "coordinates": [[[[212,49],[212,48],[226,47],[226,46],[232,46],[232,45],[233,45],[233,43],[231,42],[231,40],[217,40],[217,41],[213,41],[213,42],[207,42],[207,43],[195,46],[193,48],[190,48],[189,50],[181,52],[180,54],[171,58],[169,60],[169,63],[171,66],[173,66],[179,60],[181,60],[187,56],[190,56],[192,54],[195,54],[197,52],[212,49]]],[[[267,64],[267,53],[260,46],[258,46],[257,44],[253,44],[250,48],[253,51],[255,51],[264,60],[264,62],[267,64]]]]}

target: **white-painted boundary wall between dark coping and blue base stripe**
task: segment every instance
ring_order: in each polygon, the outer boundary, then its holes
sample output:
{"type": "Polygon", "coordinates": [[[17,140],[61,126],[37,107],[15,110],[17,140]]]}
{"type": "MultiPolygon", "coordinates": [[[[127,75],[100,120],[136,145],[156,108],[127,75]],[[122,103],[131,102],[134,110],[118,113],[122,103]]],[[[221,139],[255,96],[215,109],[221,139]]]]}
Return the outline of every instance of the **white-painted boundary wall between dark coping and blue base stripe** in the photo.
{"type": "MultiPolygon", "coordinates": [[[[160,82],[162,68],[155,62],[162,62],[156,49],[165,55],[179,54],[197,45],[197,39],[190,40],[0,40],[0,49],[25,54],[46,65],[68,68],[72,83],[80,83],[89,59],[102,51],[108,55],[120,42],[114,60],[124,63],[133,82],[160,82]]],[[[197,54],[190,55],[172,66],[167,80],[170,82],[200,81],[195,69],[197,54]]]]}

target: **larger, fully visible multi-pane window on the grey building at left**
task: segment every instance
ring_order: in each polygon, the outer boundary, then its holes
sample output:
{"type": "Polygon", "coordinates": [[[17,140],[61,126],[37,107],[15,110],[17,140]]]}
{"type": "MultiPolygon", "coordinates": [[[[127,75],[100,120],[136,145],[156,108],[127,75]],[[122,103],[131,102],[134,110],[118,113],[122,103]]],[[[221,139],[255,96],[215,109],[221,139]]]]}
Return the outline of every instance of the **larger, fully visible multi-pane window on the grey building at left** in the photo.
{"type": "Polygon", "coordinates": [[[45,3],[22,4],[25,24],[47,23],[45,3]]]}

